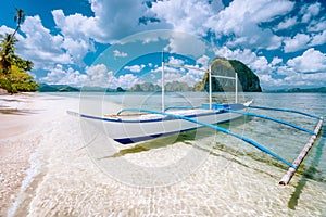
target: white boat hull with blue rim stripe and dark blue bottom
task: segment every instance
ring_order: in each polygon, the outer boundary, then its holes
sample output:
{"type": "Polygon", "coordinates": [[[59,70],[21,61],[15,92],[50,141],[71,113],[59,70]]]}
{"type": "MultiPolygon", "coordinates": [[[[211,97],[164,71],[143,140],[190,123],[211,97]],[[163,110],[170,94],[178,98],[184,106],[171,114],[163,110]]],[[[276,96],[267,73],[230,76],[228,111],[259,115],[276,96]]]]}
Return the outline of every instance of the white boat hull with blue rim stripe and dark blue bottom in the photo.
{"type": "MultiPolygon", "coordinates": [[[[246,106],[241,104],[236,104],[236,106],[237,110],[246,108],[246,106]]],[[[174,115],[206,124],[229,122],[242,116],[241,114],[228,113],[227,110],[223,108],[176,110],[166,113],[171,115],[126,114],[108,115],[105,117],[83,115],[83,117],[102,120],[106,135],[110,138],[122,144],[129,144],[202,127],[201,124],[180,119],[174,115]]]]}

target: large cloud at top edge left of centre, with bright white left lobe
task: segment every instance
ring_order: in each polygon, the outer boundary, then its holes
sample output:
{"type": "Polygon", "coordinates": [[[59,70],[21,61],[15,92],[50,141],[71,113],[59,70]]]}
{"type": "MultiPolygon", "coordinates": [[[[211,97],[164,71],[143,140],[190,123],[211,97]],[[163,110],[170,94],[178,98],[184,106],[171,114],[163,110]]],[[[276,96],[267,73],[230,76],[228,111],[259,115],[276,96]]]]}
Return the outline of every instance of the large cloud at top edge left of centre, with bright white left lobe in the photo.
{"type": "MultiPolygon", "coordinates": [[[[114,43],[117,40],[142,30],[166,28],[159,22],[140,23],[141,18],[154,16],[142,0],[89,0],[93,16],[82,14],[64,15],[62,10],[52,11],[57,27],[65,37],[93,39],[100,43],[114,43]]],[[[90,47],[92,44],[90,43],[90,47]]]]}

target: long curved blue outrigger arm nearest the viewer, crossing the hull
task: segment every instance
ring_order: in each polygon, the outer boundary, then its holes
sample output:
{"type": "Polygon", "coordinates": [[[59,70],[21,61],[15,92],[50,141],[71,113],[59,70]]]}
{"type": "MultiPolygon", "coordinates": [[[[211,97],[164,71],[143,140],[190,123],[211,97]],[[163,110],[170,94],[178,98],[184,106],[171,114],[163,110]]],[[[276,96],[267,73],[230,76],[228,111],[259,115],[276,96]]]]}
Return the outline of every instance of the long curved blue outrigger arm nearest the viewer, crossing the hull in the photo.
{"type": "Polygon", "coordinates": [[[198,125],[202,125],[204,127],[209,127],[209,128],[215,129],[217,131],[224,132],[226,135],[230,135],[233,137],[236,137],[236,138],[240,139],[240,140],[242,140],[242,141],[244,141],[244,142],[253,145],[254,148],[261,150],[262,152],[265,152],[266,154],[269,154],[271,156],[279,159],[280,162],[285,163],[286,165],[290,166],[291,168],[297,169],[296,165],[289,163],[285,158],[280,157],[279,155],[275,154],[274,152],[269,151],[268,149],[264,148],[263,145],[256,143],[255,141],[253,141],[253,140],[247,138],[247,137],[243,137],[241,135],[238,135],[236,132],[233,132],[229,129],[226,129],[226,128],[223,128],[223,127],[220,127],[220,126],[216,126],[216,125],[212,125],[212,124],[209,124],[209,123],[200,122],[200,120],[197,120],[197,119],[193,119],[193,118],[189,118],[189,117],[185,117],[185,116],[181,116],[181,115],[176,115],[176,114],[171,114],[171,113],[163,113],[163,112],[156,112],[156,111],[151,111],[151,110],[143,110],[143,108],[125,108],[125,110],[120,111],[117,114],[121,114],[123,112],[143,112],[143,113],[151,113],[151,114],[158,114],[158,115],[165,115],[165,116],[172,116],[172,117],[177,118],[177,119],[184,119],[184,120],[191,122],[191,123],[195,123],[195,124],[198,124],[198,125]]]}

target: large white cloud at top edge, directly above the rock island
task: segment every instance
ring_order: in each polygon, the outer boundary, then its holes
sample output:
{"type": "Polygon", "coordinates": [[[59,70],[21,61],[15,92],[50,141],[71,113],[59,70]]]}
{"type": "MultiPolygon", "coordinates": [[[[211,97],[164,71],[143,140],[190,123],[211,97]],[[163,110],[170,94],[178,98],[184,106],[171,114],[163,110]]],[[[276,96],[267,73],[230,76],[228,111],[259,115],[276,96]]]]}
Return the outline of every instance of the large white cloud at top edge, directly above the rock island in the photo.
{"type": "Polygon", "coordinates": [[[276,49],[281,46],[280,38],[271,29],[263,29],[260,24],[273,21],[279,15],[287,14],[293,8],[291,1],[269,0],[235,0],[218,14],[209,17],[203,25],[217,36],[231,37],[228,46],[256,47],[276,49]]]}

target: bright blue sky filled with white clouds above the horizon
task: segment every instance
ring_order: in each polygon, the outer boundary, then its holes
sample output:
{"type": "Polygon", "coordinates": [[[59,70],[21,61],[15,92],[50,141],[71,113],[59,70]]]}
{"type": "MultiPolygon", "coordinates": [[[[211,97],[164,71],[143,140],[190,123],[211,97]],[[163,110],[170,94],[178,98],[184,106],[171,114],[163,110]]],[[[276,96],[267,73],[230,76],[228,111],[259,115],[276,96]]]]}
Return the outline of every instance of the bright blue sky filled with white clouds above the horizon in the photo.
{"type": "MultiPolygon", "coordinates": [[[[135,34],[170,29],[206,41],[215,56],[243,62],[263,89],[326,87],[324,0],[1,0],[1,35],[14,31],[15,8],[26,14],[16,53],[34,62],[30,74],[39,82],[80,87],[91,79],[129,88],[150,80],[161,67],[156,55],[115,48],[135,34]],[[115,60],[128,59],[120,73],[95,64],[108,49],[115,60]]],[[[204,58],[164,61],[196,65],[204,58]]],[[[172,67],[167,73],[167,81],[190,85],[203,75],[172,67]]]]}

